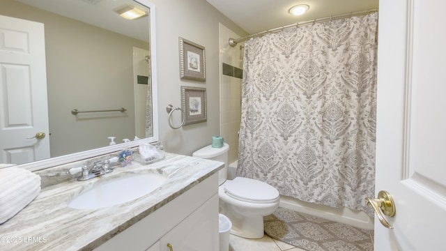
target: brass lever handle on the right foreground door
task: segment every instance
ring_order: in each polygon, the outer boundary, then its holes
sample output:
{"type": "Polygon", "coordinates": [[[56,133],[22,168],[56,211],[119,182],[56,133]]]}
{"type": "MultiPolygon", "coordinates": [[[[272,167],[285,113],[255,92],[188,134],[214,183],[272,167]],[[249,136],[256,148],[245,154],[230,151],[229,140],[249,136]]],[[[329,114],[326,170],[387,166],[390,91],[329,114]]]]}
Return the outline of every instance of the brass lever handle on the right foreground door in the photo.
{"type": "Polygon", "coordinates": [[[376,216],[378,216],[379,221],[384,227],[393,229],[393,227],[385,220],[384,215],[393,217],[396,213],[395,203],[393,201],[392,195],[387,191],[379,191],[378,198],[365,198],[365,204],[374,208],[376,216]],[[382,212],[382,213],[381,213],[382,212]]]}

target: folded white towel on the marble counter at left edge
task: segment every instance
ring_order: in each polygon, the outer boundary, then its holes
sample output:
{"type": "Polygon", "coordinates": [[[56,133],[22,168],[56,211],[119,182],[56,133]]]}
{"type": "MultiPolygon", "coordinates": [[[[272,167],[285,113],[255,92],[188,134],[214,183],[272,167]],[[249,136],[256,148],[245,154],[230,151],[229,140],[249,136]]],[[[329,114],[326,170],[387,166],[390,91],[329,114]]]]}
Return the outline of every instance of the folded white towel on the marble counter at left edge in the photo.
{"type": "Polygon", "coordinates": [[[40,176],[20,168],[0,169],[0,224],[22,211],[40,192],[40,176]]]}

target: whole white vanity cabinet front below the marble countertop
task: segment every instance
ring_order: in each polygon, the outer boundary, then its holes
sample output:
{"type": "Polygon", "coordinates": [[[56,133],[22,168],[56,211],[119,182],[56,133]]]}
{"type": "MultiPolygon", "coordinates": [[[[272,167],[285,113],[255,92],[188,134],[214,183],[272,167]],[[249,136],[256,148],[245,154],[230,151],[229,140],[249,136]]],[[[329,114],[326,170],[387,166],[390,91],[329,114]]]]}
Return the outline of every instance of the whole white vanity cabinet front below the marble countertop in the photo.
{"type": "Polygon", "coordinates": [[[218,173],[215,173],[95,250],[212,251],[218,248],[218,173]]]}

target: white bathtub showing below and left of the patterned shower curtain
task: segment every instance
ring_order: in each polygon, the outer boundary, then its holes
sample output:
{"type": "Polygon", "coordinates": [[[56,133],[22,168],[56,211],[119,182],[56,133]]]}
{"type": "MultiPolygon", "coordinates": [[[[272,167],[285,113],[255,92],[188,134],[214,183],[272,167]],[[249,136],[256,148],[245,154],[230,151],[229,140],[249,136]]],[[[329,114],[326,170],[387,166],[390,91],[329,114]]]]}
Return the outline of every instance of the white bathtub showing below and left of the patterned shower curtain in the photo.
{"type": "MultiPolygon", "coordinates": [[[[228,179],[236,177],[237,160],[229,164],[228,179]]],[[[288,208],[300,213],[318,216],[334,222],[340,222],[361,229],[374,229],[374,219],[362,211],[356,211],[349,208],[332,208],[306,201],[301,201],[293,197],[280,195],[279,207],[288,208]]]]}

